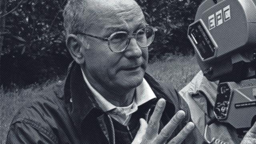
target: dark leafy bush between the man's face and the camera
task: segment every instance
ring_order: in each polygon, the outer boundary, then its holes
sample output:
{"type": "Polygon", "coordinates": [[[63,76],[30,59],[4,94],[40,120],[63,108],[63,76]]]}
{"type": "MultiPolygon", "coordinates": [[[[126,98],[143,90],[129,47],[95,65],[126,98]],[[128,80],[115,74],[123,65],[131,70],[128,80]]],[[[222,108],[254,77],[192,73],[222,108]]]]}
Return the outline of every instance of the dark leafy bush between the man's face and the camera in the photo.
{"type": "Polygon", "coordinates": [[[150,46],[150,56],[166,53],[190,54],[192,45],[187,38],[188,25],[194,22],[202,0],[137,0],[148,23],[158,31],[150,46]]]}

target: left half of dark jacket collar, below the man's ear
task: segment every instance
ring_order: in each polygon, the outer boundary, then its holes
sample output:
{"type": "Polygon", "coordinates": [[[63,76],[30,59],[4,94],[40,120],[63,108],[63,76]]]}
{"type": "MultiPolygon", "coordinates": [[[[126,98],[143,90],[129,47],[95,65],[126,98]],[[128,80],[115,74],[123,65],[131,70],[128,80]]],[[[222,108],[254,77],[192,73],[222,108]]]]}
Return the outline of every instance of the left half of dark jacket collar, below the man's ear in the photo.
{"type": "Polygon", "coordinates": [[[92,93],[84,82],[80,65],[72,62],[66,77],[64,100],[76,126],[80,127],[82,120],[92,110],[97,111],[97,116],[103,114],[92,98],[92,93]]]}

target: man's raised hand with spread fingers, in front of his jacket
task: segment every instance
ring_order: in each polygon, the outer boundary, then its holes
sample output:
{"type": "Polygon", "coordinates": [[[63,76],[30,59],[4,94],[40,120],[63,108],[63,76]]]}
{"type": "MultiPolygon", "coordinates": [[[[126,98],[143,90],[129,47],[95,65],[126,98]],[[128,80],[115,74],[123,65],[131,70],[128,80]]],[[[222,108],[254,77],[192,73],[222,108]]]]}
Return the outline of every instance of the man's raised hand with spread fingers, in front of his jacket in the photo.
{"type": "MultiPolygon", "coordinates": [[[[160,99],[156,108],[147,122],[144,119],[140,119],[140,129],[138,130],[132,144],[164,144],[172,135],[172,132],[176,129],[178,124],[185,118],[185,112],[178,111],[173,118],[164,126],[161,132],[158,134],[160,119],[165,108],[165,100],[160,99]]],[[[168,142],[168,144],[180,144],[182,141],[192,132],[195,125],[189,122],[177,136],[168,142]]]]}

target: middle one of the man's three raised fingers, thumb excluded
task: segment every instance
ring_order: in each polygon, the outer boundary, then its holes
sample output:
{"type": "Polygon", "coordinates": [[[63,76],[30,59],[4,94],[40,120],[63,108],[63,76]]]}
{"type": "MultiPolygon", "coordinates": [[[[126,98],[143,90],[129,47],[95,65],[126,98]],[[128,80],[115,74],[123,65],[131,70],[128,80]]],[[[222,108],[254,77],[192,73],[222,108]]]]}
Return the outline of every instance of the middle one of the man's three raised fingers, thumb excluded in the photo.
{"type": "Polygon", "coordinates": [[[159,142],[159,144],[162,144],[168,140],[168,138],[172,135],[172,132],[176,129],[178,124],[185,118],[185,112],[183,110],[179,110],[164,126],[164,128],[161,130],[160,134],[156,138],[156,142],[159,142]]]}

